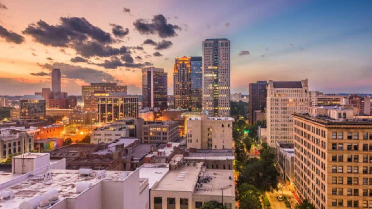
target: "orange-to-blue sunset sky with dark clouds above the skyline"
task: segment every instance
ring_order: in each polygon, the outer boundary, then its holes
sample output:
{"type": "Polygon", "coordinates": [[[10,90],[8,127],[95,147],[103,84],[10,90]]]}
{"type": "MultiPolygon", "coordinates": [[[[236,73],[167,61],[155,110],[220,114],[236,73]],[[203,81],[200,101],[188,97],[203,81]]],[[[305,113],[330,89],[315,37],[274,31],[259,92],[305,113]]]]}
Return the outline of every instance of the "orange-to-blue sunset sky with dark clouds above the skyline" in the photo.
{"type": "Polygon", "coordinates": [[[257,80],[308,78],[324,93],[371,93],[372,1],[0,0],[0,95],[118,82],[141,93],[141,68],[168,72],[201,56],[206,38],[231,41],[231,92],[257,80]]]}

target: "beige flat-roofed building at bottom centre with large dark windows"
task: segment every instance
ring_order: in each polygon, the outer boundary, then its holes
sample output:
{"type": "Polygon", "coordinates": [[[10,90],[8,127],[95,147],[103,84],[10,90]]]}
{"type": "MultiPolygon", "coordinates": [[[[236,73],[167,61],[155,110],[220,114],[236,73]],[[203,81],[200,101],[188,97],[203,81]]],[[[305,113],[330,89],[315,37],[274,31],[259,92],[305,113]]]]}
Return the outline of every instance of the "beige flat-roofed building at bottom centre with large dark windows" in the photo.
{"type": "Polygon", "coordinates": [[[151,180],[156,183],[150,186],[150,208],[195,209],[215,200],[223,202],[228,209],[235,209],[233,170],[206,169],[203,163],[184,164],[184,161],[182,155],[175,155],[168,171],[162,167],[146,168],[148,173],[159,173],[149,177],[158,178],[151,180]]]}

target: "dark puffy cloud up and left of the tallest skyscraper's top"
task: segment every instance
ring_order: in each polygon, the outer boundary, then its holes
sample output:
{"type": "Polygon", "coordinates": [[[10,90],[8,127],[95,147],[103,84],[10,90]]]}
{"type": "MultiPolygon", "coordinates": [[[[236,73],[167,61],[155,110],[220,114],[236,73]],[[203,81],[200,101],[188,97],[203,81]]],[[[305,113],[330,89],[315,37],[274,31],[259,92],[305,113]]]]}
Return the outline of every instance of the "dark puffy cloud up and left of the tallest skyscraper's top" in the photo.
{"type": "Polygon", "coordinates": [[[176,30],[182,30],[178,25],[167,23],[167,19],[161,14],[154,15],[151,23],[144,19],[137,19],[133,25],[141,34],[157,33],[161,38],[177,36],[176,30]]]}

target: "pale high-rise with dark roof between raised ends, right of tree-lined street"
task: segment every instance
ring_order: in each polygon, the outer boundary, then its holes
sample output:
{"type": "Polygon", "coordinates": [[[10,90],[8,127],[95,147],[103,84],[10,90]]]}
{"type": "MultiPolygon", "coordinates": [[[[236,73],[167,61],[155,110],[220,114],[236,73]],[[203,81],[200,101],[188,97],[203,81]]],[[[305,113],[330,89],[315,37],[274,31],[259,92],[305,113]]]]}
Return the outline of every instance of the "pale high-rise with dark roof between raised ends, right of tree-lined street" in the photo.
{"type": "Polygon", "coordinates": [[[276,141],[293,141],[292,113],[309,111],[308,80],[272,81],[267,86],[267,141],[275,148],[276,141]]]}

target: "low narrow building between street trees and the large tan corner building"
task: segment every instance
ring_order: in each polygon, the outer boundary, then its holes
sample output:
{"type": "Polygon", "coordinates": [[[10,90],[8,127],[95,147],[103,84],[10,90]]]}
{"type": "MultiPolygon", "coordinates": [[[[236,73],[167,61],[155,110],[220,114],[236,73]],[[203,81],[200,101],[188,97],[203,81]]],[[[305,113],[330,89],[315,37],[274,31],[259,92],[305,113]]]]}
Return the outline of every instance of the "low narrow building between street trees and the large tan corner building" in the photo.
{"type": "Polygon", "coordinates": [[[276,168],[284,180],[294,182],[293,143],[276,141],[276,168]]]}

